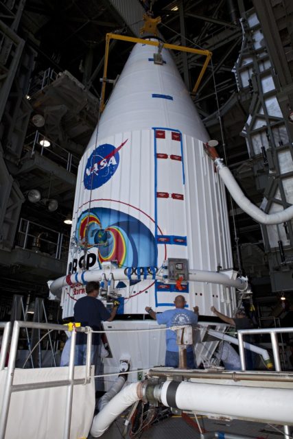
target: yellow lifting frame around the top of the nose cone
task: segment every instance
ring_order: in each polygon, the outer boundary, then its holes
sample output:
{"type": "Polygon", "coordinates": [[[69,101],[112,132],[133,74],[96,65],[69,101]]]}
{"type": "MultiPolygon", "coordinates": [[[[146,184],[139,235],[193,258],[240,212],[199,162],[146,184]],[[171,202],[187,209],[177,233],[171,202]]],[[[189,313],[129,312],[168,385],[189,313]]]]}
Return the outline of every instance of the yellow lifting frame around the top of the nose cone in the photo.
{"type": "Polygon", "coordinates": [[[105,99],[105,91],[106,91],[106,79],[107,79],[110,40],[128,41],[129,43],[141,43],[141,44],[146,44],[146,45],[154,46],[154,47],[160,46],[160,47],[163,47],[165,49],[178,50],[181,52],[188,52],[190,54],[206,56],[207,58],[204,61],[204,64],[203,64],[202,69],[200,71],[200,74],[198,75],[198,79],[196,80],[196,84],[195,84],[191,93],[196,93],[196,91],[198,90],[198,86],[200,85],[200,81],[202,80],[202,76],[204,75],[204,72],[207,70],[207,66],[208,66],[209,61],[211,60],[211,56],[212,56],[212,52],[210,52],[209,50],[192,49],[191,47],[177,46],[177,45],[168,44],[168,43],[161,43],[160,41],[144,40],[143,38],[135,38],[134,36],[106,34],[106,51],[105,51],[105,62],[104,62],[104,72],[103,72],[103,84],[102,84],[102,92],[101,92],[101,103],[100,103],[100,108],[99,108],[101,113],[103,112],[103,110],[105,108],[104,99],[105,99]]]}

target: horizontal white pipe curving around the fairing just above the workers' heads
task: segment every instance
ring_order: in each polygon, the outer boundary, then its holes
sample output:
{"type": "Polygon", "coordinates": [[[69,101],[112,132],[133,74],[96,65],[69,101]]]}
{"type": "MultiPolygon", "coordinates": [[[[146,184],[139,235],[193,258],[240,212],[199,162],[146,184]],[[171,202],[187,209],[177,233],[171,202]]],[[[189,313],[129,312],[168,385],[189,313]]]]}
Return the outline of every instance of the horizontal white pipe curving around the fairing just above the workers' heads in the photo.
{"type": "MultiPolygon", "coordinates": [[[[109,271],[108,273],[105,273],[104,270],[87,270],[77,274],[60,277],[49,285],[49,289],[52,294],[58,295],[60,294],[62,287],[65,287],[66,285],[74,285],[75,283],[84,284],[84,281],[102,281],[105,276],[106,278],[113,276],[115,281],[125,281],[128,279],[128,276],[124,273],[124,268],[116,268],[113,272],[109,271]]],[[[131,278],[132,280],[137,280],[137,274],[132,274],[131,278]]],[[[148,274],[146,278],[152,279],[152,274],[148,274]]],[[[143,279],[143,276],[141,276],[141,279],[143,279]]],[[[156,275],[156,279],[162,281],[163,276],[156,275]]],[[[248,288],[248,283],[244,278],[231,279],[224,273],[207,270],[189,270],[189,280],[195,282],[217,283],[220,285],[235,287],[240,291],[246,291],[248,288]]]]}

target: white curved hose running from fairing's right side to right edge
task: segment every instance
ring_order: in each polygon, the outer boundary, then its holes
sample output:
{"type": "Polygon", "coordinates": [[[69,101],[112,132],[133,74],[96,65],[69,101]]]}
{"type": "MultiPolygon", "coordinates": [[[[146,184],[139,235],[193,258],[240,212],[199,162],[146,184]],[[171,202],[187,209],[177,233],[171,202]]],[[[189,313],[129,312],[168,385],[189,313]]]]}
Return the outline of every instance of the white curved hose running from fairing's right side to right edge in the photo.
{"type": "Polygon", "coordinates": [[[261,209],[259,209],[257,206],[255,206],[255,204],[250,202],[248,198],[246,198],[230,169],[224,165],[221,158],[215,159],[215,165],[226,188],[231,193],[233,200],[245,213],[255,219],[255,221],[268,226],[270,224],[281,224],[283,222],[290,221],[290,219],[293,218],[293,206],[290,206],[287,209],[277,213],[268,214],[261,211],[261,209]]]}

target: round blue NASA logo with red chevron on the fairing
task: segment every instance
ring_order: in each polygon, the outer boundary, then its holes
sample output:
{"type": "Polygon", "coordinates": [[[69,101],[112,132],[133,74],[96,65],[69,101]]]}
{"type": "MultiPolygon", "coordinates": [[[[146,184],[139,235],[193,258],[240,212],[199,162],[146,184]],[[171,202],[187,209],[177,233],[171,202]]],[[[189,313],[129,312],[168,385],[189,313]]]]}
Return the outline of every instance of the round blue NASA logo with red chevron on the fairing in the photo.
{"type": "Polygon", "coordinates": [[[92,152],[86,162],[86,169],[84,169],[84,187],[86,189],[97,189],[110,180],[119,166],[119,150],[127,141],[128,139],[118,147],[104,143],[92,152]]]}

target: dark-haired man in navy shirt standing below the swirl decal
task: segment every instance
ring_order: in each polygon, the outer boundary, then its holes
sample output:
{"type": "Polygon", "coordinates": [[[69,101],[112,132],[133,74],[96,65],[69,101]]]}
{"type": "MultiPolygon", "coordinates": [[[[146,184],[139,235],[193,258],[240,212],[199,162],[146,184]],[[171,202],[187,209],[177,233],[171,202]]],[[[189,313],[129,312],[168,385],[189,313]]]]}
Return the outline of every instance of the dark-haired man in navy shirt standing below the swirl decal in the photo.
{"type": "MultiPolygon", "coordinates": [[[[86,296],[80,298],[74,306],[75,322],[80,322],[82,327],[91,327],[93,331],[101,331],[102,322],[111,322],[118,309],[115,304],[110,313],[97,299],[98,294],[99,282],[89,282],[86,284],[86,296]]],[[[86,337],[84,333],[76,335],[75,366],[86,364],[86,337]]],[[[95,364],[96,368],[99,363],[100,340],[100,334],[93,334],[91,364],[95,364]]]]}

